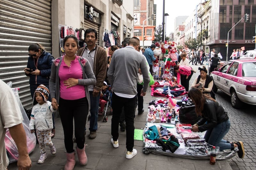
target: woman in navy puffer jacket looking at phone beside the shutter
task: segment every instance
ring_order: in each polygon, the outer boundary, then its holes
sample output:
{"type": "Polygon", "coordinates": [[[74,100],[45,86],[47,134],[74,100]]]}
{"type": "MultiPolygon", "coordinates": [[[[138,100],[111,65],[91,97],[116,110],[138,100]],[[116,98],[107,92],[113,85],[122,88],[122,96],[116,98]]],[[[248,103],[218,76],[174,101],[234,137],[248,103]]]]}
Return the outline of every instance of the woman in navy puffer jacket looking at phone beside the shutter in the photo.
{"type": "MultiPolygon", "coordinates": [[[[47,53],[39,43],[31,44],[28,47],[28,64],[24,69],[26,76],[29,77],[29,86],[32,99],[38,85],[45,85],[49,89],[49,79],[51,75],[52,54],[47,53]]],[[[49,96],[49,101],[51,96],[49,96]]],[[[52,113],[52,138],[55,136],[54,113],[52,113]]]]}

